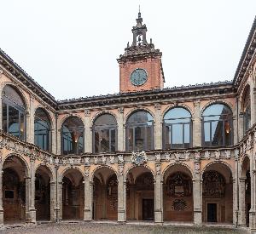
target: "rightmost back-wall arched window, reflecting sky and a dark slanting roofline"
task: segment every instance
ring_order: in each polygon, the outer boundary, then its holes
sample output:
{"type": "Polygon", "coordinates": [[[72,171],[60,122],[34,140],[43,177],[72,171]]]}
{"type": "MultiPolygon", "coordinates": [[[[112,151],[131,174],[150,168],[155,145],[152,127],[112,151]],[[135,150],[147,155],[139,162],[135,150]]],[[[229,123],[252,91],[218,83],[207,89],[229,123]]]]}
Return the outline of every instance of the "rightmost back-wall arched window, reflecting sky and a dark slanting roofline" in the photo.
{"type": "Polygon", "coordinates": [[[223,104],[207,107],[202,114],[203,146],[230,146],[233,144],[232,111],[223,104]]]}

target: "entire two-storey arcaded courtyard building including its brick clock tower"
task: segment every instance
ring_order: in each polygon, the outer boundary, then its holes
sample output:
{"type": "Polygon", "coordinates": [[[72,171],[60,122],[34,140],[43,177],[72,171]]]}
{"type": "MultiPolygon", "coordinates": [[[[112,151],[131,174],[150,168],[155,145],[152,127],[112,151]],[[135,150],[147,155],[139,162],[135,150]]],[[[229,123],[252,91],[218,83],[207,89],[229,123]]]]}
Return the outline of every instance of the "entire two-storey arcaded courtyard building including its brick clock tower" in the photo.
{"type": "Polygon", "coordinates": [[[131,31],[118,94],[55,100],[0,49],[0,225],[256,231],[256,18],[233,81],[174,88],[141,13],[131,31]]]}

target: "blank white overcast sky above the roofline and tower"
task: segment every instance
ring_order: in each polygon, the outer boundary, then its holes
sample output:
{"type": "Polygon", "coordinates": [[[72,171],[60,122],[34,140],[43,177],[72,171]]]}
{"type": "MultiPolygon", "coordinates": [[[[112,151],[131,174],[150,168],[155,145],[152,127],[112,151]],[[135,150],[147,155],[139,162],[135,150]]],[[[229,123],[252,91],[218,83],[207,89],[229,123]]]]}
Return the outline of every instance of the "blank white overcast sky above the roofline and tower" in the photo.
{"type": "Polygon", "coordinates": [[[117,93],[139,4],[165,87],[233,79],[255,0],[0,0],[0,48],[57,100],[117,93]]]}

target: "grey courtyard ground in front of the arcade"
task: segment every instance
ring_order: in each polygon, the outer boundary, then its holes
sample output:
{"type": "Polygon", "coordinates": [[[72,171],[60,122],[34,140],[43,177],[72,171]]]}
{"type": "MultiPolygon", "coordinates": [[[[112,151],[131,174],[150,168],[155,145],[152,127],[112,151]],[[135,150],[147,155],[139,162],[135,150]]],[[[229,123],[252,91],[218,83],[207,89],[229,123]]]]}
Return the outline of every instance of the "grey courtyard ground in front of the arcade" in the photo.
{"type": "Polygon", "coordinates": [[[171,234],[246,234],[245,230],[231,229],[225,227],[201,227],[173,226],[173,225],[114,225],[102,223],[61,223],[42,225],[21,225],[8,228],[0,233],[42,233],[42,234],[84,234],[84,233],[171,233],[171,234]]]}

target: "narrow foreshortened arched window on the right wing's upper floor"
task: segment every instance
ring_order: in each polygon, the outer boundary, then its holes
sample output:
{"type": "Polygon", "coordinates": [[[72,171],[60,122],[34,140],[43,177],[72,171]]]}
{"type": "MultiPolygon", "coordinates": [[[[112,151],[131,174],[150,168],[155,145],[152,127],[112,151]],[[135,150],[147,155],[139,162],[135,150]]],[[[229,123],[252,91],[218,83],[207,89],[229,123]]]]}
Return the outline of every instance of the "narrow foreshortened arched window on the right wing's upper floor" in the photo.
{"type": "Polygon", "coordinates": [[[251,127],[251,99],[250,99],[250,87],[247,86],[245,94],[242,100],[243,104],[243,133],[251,127]]]}

